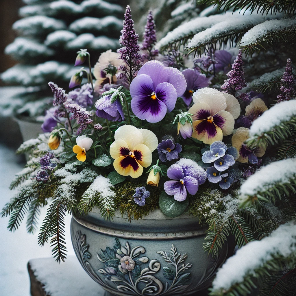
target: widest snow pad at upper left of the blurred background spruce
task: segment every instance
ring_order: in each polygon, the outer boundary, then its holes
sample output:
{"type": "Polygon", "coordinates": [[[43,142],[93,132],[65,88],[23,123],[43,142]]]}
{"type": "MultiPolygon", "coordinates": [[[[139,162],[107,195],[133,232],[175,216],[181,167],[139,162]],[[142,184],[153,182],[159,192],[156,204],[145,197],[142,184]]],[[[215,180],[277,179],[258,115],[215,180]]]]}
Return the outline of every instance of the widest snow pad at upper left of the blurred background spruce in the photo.
{"type": "Polygon", "coordinates": [[[12,28],[22,31],[24,35],[40,35],[66,29],[66,25],[62,20],[56,20],[44,15],[36,15],[17,20],[12,25],[12,28]]]}

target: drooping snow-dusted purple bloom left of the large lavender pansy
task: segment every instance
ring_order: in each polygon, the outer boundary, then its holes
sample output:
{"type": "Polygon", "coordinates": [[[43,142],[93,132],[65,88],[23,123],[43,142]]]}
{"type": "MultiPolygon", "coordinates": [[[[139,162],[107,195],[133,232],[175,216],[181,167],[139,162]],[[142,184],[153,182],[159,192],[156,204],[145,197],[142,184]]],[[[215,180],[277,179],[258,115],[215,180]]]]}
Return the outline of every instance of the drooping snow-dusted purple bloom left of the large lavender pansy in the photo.
{"type": "Polygon", "coordinates": [[[122,121],[124,120],[124,114],[120,99],[111,103],[111,95],[103,96],[96,101],[96,115],[101,118],[105,118],[109,121],[122,121]]]}

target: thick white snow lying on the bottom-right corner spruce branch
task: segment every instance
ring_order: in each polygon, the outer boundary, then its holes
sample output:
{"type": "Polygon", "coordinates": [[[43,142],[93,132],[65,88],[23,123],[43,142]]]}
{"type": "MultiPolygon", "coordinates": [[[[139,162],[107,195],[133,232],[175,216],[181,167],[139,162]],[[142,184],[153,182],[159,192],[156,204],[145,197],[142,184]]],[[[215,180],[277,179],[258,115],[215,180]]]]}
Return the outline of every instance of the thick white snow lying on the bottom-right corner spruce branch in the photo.
{"type": "MultiPolygon", "coordinates": [[[[296,251],[295,234],[296,225],[294,222],[289,222],[279,226],[268,237],[250,242],[239,249],[218,270],[213,281],[211,295],[226,295],[227,292],[234,292],[235,288],[231,287],[244,282],[250,289],[250,277],[256,276],[257,269],[263,268],[274,257],[288,257],[296,251]],[[239,268],[237,268],[238,266],[239,268]],[[249,282],[247,282],[248,279],[249,282]]],[[[247,294],[246,289],[241,291],[244,292],[243,295],[247,294]]]]}

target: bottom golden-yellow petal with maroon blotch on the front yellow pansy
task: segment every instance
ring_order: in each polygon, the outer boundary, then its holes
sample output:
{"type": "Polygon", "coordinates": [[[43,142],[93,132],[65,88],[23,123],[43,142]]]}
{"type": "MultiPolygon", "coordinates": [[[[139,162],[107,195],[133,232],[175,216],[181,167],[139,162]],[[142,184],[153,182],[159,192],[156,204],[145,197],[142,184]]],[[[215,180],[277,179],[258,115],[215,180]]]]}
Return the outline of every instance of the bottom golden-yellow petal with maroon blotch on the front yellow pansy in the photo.
{"type": "Polygon", "coordinates": [[[135,157],[120,156],[113,162],[113,166],[117,173],[122,176],[131,176],[138,178],[143,173],[143,167],[137,162],[135,157]]]}

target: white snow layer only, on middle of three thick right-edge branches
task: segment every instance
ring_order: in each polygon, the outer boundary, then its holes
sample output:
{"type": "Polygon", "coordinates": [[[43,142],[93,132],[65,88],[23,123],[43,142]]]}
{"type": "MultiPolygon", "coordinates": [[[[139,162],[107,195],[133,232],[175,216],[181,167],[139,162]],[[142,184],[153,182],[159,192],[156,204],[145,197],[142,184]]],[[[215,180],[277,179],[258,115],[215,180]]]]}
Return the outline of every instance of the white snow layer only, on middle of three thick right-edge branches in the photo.
{"type": "Polygon", "coordinates": [[[253,196],[257,192],[266,191],[276,183],[290,183],[290,179],[295,176],[295,158],[274,161],[247,178],[240,188],[240,200],[253,196]]]}

